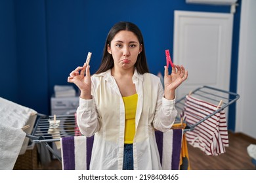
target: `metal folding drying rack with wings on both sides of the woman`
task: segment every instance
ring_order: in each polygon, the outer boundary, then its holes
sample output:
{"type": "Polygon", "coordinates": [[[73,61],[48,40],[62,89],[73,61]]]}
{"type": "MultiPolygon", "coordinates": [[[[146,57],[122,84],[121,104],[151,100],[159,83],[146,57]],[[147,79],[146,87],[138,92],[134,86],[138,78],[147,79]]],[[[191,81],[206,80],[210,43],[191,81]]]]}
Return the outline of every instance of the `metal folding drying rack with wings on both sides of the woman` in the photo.
{"type": "MultiPolygon", "coordinates": [[[[202,99],[204,101],[208,101],[209,103],[215,104],[219,106],[219,109],[215,110],[215,112],[209,114],[205,118],[202,118],[194,125],[186,125],[184,132],[192,131],[196,125],[201,124],[203,121],[207,120],[217,112],[220,112],[224,108],[228,107],[232,103],[236,102],[240,95],[237,93],[228,92],[225,90],[220,90],[217,88],[213,88],[210,86],[202,86],[197,88],[196,90],[191,91],[188,95],[193,95],[198,99],[202,99]]],[[[175,103],[175,107],[177,108],[178,115],[175,119],[175,123],[181,123],[181,114],[184,110],[184,105],[186,101],[186,95],[181,99],[177,100],[175,103]]],[[[32,134],[27,134],[26,137],[29,137],[30,140],[34,143],[44,143],[45,146],[49,149],[51,153],[53,153],[56,158],[61,161],[60,156],[54,152],[53,148],[49,145],[49,142],[57,142],[60,141],[61,137],[75,136],[79,135],[80,131],[75,122],[75,114],[74,115],[59,115],[56,116],[56,120],[60,120],[60,124],[58,126],[59,133],[51,135],[48,133],[49,129],[51,129],[51,125],[49,120],[54,120],[54,116],[46,116],[43,114],[37,115],[37,120],[35,122],[35,127],[33,128],[32,134]]],[[[186,121],[183,122],[186,124],[186,121]]]]}

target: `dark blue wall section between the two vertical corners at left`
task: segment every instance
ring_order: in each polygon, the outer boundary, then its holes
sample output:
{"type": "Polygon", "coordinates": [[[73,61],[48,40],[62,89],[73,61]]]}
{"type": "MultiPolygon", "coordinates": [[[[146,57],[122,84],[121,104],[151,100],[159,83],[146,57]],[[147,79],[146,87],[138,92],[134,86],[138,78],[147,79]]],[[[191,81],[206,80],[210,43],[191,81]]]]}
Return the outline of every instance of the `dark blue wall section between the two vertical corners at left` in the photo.
{"type": "Polygon", "coordinates": [[[49,112],[49,61],[45,1],[14,1],[18,103],[49,112]]]}

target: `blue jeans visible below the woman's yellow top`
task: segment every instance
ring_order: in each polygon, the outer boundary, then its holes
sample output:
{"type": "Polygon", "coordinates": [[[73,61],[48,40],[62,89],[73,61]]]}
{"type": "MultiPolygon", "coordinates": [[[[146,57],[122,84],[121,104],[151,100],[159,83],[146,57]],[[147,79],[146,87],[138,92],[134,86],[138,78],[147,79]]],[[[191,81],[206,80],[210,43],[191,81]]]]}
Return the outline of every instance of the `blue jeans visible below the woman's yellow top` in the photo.
{"type": "Polygon", "coordinates": [[[125,144],[123,150],[123,170],[133,170],[133,144],[125,144]]]}

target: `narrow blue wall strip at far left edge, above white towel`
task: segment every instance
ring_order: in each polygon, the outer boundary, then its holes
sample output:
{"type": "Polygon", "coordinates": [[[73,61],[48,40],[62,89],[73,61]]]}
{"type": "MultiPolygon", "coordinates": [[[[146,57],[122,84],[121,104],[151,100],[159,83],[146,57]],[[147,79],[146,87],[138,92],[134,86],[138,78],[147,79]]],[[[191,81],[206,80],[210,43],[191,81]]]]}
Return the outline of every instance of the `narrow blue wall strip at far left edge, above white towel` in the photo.
{"type": "Polygon", "coordinates": [[[14,3],[0,0],[0,97],[18,102],[14,3]]]}

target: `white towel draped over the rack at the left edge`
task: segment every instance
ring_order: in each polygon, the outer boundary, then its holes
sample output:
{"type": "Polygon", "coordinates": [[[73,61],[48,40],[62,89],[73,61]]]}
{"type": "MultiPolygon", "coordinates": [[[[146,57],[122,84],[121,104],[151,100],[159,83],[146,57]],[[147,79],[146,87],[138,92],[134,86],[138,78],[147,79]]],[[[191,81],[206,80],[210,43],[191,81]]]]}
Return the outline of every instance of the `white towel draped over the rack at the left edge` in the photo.
{"type": "Polygon", "coordinates": [[[13,169],[18,154],[26,152],[26,133],[31,133],[37,112],[1,97],[0,104],[0,169],[13,169]],[[30,127],[23,131],[25,125],[30,127]]]}

